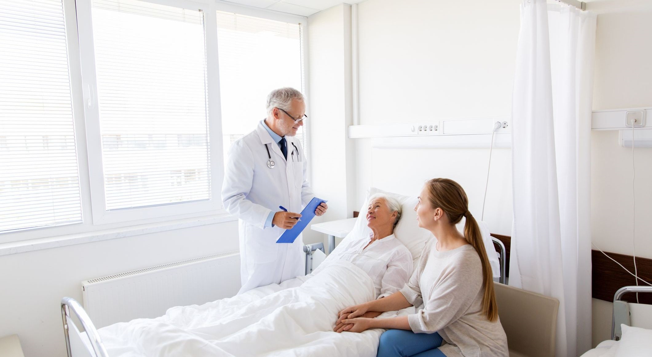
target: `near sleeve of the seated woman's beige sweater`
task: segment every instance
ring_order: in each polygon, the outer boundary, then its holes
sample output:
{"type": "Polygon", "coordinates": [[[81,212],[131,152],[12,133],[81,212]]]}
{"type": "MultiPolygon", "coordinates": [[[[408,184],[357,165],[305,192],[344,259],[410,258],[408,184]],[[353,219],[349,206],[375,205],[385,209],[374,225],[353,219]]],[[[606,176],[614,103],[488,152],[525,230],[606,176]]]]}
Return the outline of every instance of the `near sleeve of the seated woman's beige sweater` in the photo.
{"type": "Polygon", "coordinates": [[[425,294],[423,309],[408,315],[410,328],[415,333],[426,334],[441,330],[466,313],[481,289],[479,257],[461,254],[460,259],[454,259],[445,268],[433,291],[425,294]]]}

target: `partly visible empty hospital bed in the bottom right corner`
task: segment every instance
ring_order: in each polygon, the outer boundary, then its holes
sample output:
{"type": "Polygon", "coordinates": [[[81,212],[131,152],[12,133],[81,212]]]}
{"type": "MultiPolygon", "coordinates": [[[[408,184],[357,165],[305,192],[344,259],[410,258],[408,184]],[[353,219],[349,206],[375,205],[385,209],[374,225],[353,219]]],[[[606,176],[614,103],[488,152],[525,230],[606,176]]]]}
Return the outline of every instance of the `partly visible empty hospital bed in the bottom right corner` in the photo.
{"type": "MultiPolygon", "coordinates": [[[[612,312],[611,339],[600,342],[595,349],[590,349],[581,357],[614,357],[621,356],[649,356],[651,355],[652,343],[652,306],[645,304],[633,304],[621,300],[627,293],[652,293],[652,286],[627,286],[621,287],[614,294],[614,309],[612,312]],[[647,329],[647,339],[641,339],[643,334],[632,334],[623,339],[622,324],[626,326],[647,329]],[[634,345],[645,346],[645,351],[636,350],[634,345]],[[619,349],[621,350],[620,352],[619,349]],[[625,352],[627,349],[627,352],[625,352]],[[634,350],[632,350],[634,349],[634,350]],[[636,354],[639,352],[640,354],[636,354]]],[[[629,332],[627,333],[629,334],[629,332]]],[[[626,334],[626,335],[627,335],[626,334]]]]}

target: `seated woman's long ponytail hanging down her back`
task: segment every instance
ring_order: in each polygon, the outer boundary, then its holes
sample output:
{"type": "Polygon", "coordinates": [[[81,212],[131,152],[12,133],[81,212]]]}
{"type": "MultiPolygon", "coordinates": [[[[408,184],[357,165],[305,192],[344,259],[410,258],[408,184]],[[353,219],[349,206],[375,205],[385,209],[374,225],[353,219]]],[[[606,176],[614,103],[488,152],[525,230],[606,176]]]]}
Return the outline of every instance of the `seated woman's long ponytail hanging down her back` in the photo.
{"type": "Polygon", "coordinates": [[[489,321],[496,321],[498,318],[498,305],[496,303],[496,293],[494,293],[494,274],[484,249],[482,233],[475,218],[471,212],[466,211],[464,214],[466,222],[464,223],[464,238],[475,248],[482,263],[482,283],[484,285],[484,296],[482,296],[482,313],[486,315],[489,321]]]}

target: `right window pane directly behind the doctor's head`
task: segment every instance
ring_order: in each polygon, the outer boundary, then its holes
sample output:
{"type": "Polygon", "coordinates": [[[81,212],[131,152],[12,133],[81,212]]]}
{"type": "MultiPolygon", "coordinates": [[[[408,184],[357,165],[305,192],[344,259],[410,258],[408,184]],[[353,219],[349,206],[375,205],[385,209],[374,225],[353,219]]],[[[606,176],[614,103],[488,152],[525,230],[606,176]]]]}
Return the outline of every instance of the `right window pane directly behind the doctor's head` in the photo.
{"type": "MultiPolygon", "coordinates": [[[[301,25],[217,12],[224,159],[239,137],[265,119],[270,91],[303,91],[301,25]]],[[[297,133],[303,140],[304,131],[297,133]]]]}

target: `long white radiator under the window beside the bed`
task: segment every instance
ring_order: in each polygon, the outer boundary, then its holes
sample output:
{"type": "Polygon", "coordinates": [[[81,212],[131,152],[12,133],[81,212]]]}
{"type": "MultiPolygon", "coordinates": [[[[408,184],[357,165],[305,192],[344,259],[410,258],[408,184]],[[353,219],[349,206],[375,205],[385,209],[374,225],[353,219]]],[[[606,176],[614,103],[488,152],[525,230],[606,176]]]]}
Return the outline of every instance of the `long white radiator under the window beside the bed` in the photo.
{"type": "Polygon", "coordinates": [[[230,251],[82,281],[83,307],[102,328],[231,297],[240,285],[239,251],[230,251]]]}

